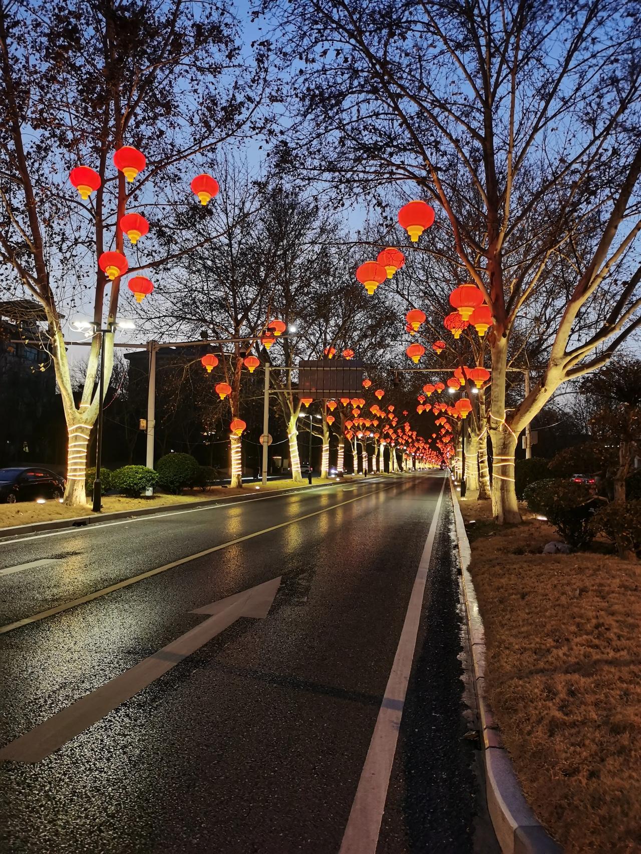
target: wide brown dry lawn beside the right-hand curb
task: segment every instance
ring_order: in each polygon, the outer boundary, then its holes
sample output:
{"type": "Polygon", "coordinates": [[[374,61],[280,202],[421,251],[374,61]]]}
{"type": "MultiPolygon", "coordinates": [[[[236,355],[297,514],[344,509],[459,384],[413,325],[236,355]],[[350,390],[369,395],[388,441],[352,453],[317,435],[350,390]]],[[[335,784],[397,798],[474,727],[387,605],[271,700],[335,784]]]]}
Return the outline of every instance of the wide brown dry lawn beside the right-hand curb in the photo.
{"type": "MultiPolygon", "coordinates": [[[[490,699],[526,798],[567,854],[641,851],[641,567],[464,500],[490,699]]],[[[529,517],[529,518],[528,518],[529,517]]]]}

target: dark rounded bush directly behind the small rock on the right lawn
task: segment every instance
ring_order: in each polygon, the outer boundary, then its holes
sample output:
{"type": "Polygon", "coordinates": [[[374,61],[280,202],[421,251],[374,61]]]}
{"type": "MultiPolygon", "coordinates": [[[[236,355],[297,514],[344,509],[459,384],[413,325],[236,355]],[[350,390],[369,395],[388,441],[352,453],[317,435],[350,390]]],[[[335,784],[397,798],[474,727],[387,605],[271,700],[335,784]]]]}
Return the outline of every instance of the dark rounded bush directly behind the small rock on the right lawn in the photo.
{"type": "Polygon", "coordinates": [[[583,548],[594,538],[591,520],[602,501],[585,483],[549,477],[531,483],[523,494],[529,509],[544,515],[569,546],[583,548]]]}

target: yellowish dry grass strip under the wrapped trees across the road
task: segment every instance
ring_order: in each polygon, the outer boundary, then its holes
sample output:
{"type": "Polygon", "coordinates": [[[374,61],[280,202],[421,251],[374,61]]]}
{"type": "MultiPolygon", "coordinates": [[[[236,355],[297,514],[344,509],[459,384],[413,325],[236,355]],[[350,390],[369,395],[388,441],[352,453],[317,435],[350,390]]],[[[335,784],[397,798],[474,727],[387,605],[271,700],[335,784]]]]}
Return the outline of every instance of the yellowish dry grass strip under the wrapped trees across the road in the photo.
{"type": "MultiPolygon", "coordinates": [[[[360,476],[359,476],[360,477],[360,476]]],[[[351,478],[345,478],[348,480],[351,478]]],[[[334,478],[314,478],[314,483],[336,483],[334,478]]],[[[124,498],[121,495],[105,495],[103,497],[103,513],[113,513],[122,510],[140,510],[143,507],[167,507],[175,504],[189,504],[195,501],[220,500],[234,495],[246,495],[250,492],[267,494],[279,489],[303,488],[309,486],[307,480],[303,483],[292,483],[291,480],[268,481],[266,488],[260,483],[245,483],[242,489],[213,487],[206,492],[201,490],[185,491],[179,495],[156,494],[151,498],[124,498]],[[258,487],[258,488],[256,488],[258,487]]],[[[58,501],[47,501],[36,504],[35,501],[21,501],[17,504],[0,504],[0,528],[13,528],[15,525],[28,525],[36,522],[51,522],[56,519],[73,519],[91,516],[90,504],[84,507],[67,507],[58,501]]]]}

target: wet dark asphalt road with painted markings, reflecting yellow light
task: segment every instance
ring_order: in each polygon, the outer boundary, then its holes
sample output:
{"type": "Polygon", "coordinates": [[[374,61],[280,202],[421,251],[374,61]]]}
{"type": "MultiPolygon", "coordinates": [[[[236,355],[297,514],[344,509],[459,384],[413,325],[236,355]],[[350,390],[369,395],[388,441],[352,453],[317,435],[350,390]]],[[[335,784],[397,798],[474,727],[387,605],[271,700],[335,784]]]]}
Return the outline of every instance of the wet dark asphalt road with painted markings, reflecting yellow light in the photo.
{"type": "Polygon", "coordinates": [[[451,518],[408,473],[0,541],[0,851],[491,854],[451,518]]]}

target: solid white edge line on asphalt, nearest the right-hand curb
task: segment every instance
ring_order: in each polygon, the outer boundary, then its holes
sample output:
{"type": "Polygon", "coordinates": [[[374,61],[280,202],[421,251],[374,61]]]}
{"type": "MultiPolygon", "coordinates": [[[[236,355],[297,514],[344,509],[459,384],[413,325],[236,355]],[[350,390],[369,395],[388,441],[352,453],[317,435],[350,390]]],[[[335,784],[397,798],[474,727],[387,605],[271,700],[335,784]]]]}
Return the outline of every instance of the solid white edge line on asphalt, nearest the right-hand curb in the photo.
{"type": "Polygon", "coordinates": [[[368,755],[365,758],[356,797],[350,810],[339,854],[375,854],[379,842],[380,822],[385,810],[387,789],[390,785],[391,766],[397,749],[398,730],[403,717],[403,705],[408,689],[409,674],[419,631],[420,611],[427,570],[432,558],[432,547],[443,500],[445,482],[438,494],[438,502],[427,535],[423,553],[416,572],[414,587],[409,597],[405,622],[398,640],[394,664],[385,687],[385,697],[380,704],[379,717],[373,730],[368,755]]]}

